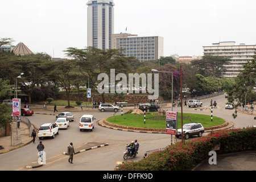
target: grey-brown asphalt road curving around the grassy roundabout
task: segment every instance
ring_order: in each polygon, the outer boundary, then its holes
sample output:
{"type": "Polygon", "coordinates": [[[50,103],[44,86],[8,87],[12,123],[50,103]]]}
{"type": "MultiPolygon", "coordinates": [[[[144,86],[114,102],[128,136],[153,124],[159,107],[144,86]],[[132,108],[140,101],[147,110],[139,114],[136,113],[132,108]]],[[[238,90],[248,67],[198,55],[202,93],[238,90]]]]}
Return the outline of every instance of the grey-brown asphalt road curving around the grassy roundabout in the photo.
{"type": "MultiPolygon", "coordinates": [[[[254,117],[252,115],[238,113],[238,117],[233,119],[232,113],[234,110],[226,110],[226,99],[224,96],[213,98],[218,105],[213,109],[213,115],[224,118],[235,123],[236,128],[255,125],[254,117]]],[[[208,106],[210,100],[204,101],[203,105],[208,106]]],[[[198,107],[200,109],[200,107],[198,107]]],[[[171,108],[167,108],[171,110],[171,108]]],[[[165,110],[167,110],[165,109],[165,110]]],[[[174,111],[180,112],[180,107],[175,107],[174,111]]],[[[195,108],[183,107],[184,113],[198,113],[210,115],[210,110],[195,110],[195,108]]],[[[52,112],[51,112],[52,113],[52,112]]],[[[55,171],[55,170],[85,170],[85,171],[113,171],[117,161],[123,161],[123,152],[126,144],[131,140],[138,139],[140,144],[139,154],[136,158],[129,158],[128,161],[138,161],[143,158],[144,152],[154,150],[156,148],[166,147],[171,143],[171,137],[167,134],[148,134],[148,133],[133,133],[129,131],[119,131],[107,129],[96,125],[93,131],[80,131],[79,118],[83,114],[93,114],[97,120],[113,115],[112,112],[73,112],[75,121],[70,123],[67,130],[60,130],[59,135],[54,139],[42,139],[44,144],[44,151],[47,159],[51,158],[51,163],[47,163],[43,167],[33,168],[33,171],[55,171]],[[73,142],[75,149],[87,142],[104,142],[108,146],[96,148],[85,151],[74,156],[73,164],[68,163],[68,156],[63,155],[67,151],[70,142],[73,142]],[[56,159],[56,160],[55,160],[56,159]]],[[[118,112],[121,114],[121,111],[118,112]]],[[[55,122],[54,115],[34,114],[28,117],[31,123],[38,128],[43,123],[55,122]]],[[[179,140],[179,139],[178,139],[179,140]]],[[[1,166],[0,170],[27,170],[25,166],[31,162],[36,162],[38,159],[38,152],[36,146],[39,143],[37,138],[35,143],[28,144],[22,148],[7,152],[0,155],[1,166]]]]}

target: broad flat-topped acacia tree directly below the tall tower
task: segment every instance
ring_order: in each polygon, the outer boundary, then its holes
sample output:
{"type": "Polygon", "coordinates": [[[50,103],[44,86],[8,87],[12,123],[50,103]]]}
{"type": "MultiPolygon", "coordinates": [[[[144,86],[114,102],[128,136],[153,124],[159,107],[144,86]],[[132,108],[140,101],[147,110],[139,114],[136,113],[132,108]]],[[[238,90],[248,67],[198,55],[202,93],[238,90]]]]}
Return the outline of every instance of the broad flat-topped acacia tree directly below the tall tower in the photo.
{"type": "MultiPolygon", "coordinates": [[[[97,88],[97,77],[100,73],[110,74],[110,69],[115,72],[128,73],[130,71],[129,59],[121,53],[120,49],[98,49],[88,47],[85,49],[77,49],[69,47],[65,51],[69,57],[76,60],[79,71],[85,78],[90,79],[95,88],[97,88]]],[[[102,95],[102,103],[105,102],[104,93],[102,95]]]]}

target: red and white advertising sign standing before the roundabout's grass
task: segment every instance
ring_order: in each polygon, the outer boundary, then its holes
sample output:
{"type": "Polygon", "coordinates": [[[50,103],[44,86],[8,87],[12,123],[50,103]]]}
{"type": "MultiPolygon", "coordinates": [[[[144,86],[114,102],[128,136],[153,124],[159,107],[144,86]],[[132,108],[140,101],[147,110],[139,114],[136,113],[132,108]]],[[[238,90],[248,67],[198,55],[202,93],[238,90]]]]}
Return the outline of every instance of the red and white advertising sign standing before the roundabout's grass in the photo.
{"type": "Polygon", "coordinates": [[[177,112],[166,112],[166,134],[176,135],[177,131],[177,112]]]}

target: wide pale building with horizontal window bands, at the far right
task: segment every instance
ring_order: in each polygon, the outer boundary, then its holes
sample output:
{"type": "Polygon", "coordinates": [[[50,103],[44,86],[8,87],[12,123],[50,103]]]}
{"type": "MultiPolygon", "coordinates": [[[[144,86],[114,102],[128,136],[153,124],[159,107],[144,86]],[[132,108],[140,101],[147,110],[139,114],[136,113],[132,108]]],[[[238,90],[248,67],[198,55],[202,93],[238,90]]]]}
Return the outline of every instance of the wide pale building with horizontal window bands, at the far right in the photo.
{"type": "Polygon", "coordinates": [[[243,64],[251,61],[256,54],[256,45],[235,43],[219,42],[213,43],[212,46],[203,46],[204,55],[225,56],[231,60],[229,65],[224,65],[226,72],[223,77],[236,77],[243,69],[243,64]]]}

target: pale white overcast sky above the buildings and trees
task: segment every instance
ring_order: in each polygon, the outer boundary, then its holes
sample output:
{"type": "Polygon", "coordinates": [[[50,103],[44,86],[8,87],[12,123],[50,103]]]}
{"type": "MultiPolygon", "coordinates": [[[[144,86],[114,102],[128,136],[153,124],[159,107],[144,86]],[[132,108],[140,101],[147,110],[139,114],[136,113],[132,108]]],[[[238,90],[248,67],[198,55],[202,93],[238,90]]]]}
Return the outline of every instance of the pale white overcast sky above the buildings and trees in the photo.
{"type": "MultiPolygon", "coordinates": [[[[1,2],[0,38],[65,57],[87,46],[87,0],[1,2]]],[[[164,56],[203,56],[203,46],[256,44],[255,0],[114,0],[114,33],[162,36],[164,56]],[[127,27],[127,31],[126,31],[127,27]]],[[[53,55],[54,54],[54,55],[53,55]]]]}

